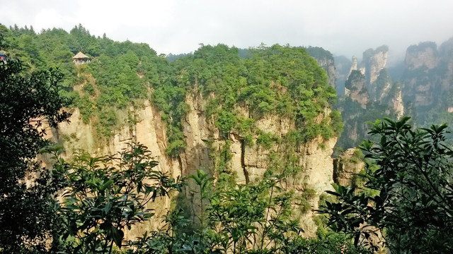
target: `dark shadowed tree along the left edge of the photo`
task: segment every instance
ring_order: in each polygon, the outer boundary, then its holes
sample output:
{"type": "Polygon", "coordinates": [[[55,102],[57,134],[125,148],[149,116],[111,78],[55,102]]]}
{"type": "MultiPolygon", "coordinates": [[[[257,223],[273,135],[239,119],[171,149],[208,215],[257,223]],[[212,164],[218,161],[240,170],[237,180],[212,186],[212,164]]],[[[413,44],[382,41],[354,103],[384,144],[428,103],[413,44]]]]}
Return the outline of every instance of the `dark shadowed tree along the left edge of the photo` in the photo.
{"type": "Polygon", "coordinates": [[[58,181],[50,183],[34,158],[47,143],[40,127],[69,116],[61,110],[69,104],[58,94],[61,80],[55,69],[25,73],[20,61],[0,61],[0,253],[42,253],[55,226],[58,181]]]}

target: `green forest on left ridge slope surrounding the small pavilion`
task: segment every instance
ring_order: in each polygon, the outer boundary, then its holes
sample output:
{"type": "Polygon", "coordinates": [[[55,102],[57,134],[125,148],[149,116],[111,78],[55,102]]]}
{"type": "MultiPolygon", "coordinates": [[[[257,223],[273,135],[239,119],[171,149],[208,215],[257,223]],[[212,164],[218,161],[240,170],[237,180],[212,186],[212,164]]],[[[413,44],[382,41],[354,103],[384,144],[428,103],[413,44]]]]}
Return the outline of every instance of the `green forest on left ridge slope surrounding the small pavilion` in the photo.
{"type": "MultiPolygon", "coordinates": [[[[154,100],[164,112],[166,122],[181,131],[180,120],[186,111],[181,103],[185,90],[168,89],[176,83],[172,68],[147,44],[114,42],[105,36],[96,38],[81,25],[69,33],[56,28],[42,30],[40,34],[29,29],[1,28],[1,35],[11,44],[8,56],[20,56],[32,70],[59,66],[64,75],[62,94],[74,98],[71,107],[81,109],[84,123],[93,121],[92,124],[97,125],[99,140],[109,138],[124,123],[125,119],[116,119],[112,124],[111,108],[126,111],[142,106],[137,103],[142,99],[154,100]],[[71,58],[79,51],[91,56],[91,62],[75,66],[71,58]],[[75,86],[83,89],[74,91],[75,86]],[[151,87],[156,96],[150,97],[151,87]],[[159,102],[156,97],[163,101],[159,102]]],[[[178,133],[168,134],[168,137],[180,137],[178,133]]],[[[169,143],[180,141],[169,140],[169,143]]],[[[169,154],[177,154],[183,148],[176,143],[172,146],[176,149],[169,154]]]]}

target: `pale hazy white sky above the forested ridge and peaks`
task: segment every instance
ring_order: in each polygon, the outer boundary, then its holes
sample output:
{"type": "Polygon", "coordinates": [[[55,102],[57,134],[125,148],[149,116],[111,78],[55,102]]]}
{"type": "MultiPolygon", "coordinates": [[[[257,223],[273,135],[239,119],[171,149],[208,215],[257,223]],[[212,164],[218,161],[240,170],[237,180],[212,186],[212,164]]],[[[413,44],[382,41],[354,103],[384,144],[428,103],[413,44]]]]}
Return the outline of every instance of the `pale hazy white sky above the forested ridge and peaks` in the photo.
{"type": "Polygon", "coordinates": [[[0,23],[71,30],[146,42],[158,54],[193,52],[198,44],[256,47],[261,42],[318,46],[362,56],[387,44],[393,59],[411,44],[453,37],[446,0],[0,0],[0,23]]]}

